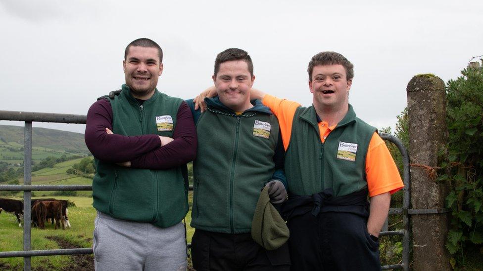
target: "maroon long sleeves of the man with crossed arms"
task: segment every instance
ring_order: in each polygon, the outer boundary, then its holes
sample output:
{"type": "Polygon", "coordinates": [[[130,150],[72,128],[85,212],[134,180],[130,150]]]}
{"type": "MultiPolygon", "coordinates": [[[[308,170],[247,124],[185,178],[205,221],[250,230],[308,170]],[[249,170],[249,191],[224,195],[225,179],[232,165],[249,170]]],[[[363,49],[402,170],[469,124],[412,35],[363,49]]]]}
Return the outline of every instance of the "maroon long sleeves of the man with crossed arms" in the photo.
{"type": "Polygon", "coordinates": [[[99,160],[131,161],[131,167],[135,168],[168,169],[192,161],[196,156],[196,129],[186,102],[178,109],[174,140],[165,146],[161,146],[161,140],[154,134],[107,134],[105,128],[112,130],[112,107],[107,99],[100,99],[87,113],[85,133],[87,148],[99,160]]]}

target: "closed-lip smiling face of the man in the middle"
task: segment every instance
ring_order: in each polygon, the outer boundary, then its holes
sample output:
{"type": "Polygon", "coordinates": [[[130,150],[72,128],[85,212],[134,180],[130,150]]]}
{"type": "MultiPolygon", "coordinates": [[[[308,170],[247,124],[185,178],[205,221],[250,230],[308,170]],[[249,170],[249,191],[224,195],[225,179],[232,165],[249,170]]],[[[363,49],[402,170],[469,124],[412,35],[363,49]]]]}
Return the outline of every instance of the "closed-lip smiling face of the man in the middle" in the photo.
{"type": "Polygon", "coordinates": [[[220,101],[235,112],[243,112],[253,107],[250,103],[250,89],[255,76],[248,71],[248,64],[243,60],[226,61],[213,75],[216,92],[220,101]]]}

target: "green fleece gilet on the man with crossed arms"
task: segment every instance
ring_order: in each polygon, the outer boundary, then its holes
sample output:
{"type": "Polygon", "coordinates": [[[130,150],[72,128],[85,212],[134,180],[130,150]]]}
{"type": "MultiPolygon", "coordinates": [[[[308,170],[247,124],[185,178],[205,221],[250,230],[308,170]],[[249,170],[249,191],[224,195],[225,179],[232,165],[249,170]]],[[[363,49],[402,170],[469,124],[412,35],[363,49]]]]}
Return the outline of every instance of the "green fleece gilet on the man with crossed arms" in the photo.
{"type": "MultiPolygon", "coordinates": [[[[113,133],[125,136],[157,134],[173,136],[182,99],[169,97],[157,89],[142,106],[129,87],[110,100],[113,133]],[[160,116],[165,116],[159,120],[160,116]],[[172,124],[169,122],[171,116],[172,124]],[[159,130],[156,125],[158,117],[159,130]]],[[[94,207],[114,218],[151,223],[167,228],[179,223],[188,212],[188,192],[181,168],[149,170],[118,166],[95,159],[94,207]]]]}

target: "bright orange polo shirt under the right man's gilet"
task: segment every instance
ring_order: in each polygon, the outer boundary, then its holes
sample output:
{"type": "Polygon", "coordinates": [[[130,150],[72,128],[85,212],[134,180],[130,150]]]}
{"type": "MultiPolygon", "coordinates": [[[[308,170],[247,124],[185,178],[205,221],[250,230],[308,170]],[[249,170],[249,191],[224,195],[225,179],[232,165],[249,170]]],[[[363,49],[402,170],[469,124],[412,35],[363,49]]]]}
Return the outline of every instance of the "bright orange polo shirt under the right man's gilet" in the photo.
{"type": "MultiPolygon", "coordinates": [[[[265,95],[262,103],[277,116],[284,148],[287,151],[290,143],[293,116],[300,104],[272,95],[265,95]]],[[[337,127],[329,127],[326,121],[319,122],[320,141],[325,142],[327,136],[337,127]]],[[[397,166],[387,149],[384,140],[375,132],[369,143],[366,155],[366,179],[369,196],[389,192],[393,194],[404,187],[397,166]]],[[[288,180],[290,182],[290,180],[288,180]]]]}

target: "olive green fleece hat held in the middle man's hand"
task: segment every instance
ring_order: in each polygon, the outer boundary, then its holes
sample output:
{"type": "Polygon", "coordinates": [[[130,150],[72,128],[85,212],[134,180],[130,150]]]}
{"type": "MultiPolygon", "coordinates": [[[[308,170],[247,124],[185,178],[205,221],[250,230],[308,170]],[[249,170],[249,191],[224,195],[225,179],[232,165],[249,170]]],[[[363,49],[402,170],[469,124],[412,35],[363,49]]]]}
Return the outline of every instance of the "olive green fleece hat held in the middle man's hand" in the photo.
{"type": "Polygon", "coordinates": [[[251,222],[251,237],[266,250],[274,250],[287,242],[290,232],[284,219],[270,203],[268,189],[264,187],[258,198],[251,222]]]}

